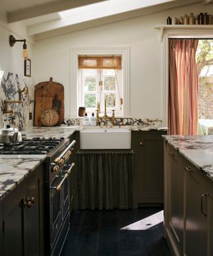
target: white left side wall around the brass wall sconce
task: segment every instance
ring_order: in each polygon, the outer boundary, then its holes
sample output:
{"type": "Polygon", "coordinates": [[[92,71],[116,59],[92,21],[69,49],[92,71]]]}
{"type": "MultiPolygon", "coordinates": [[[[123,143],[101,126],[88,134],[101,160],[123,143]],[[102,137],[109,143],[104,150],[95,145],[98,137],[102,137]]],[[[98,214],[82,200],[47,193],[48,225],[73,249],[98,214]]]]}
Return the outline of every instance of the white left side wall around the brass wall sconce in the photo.
{"type": "Polygon", "coordinates": [[[9,35],[13,35],[16,39],[27,40],[27,51],[32,60],[33,41],[27,37],[26,26],[21,22],[7,24],[5,13],[0,11],[0,70],[24,75],[23,43],[17,42],[11,47],[9,35]]]}

